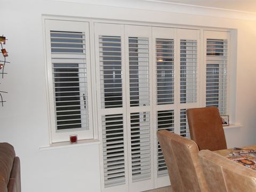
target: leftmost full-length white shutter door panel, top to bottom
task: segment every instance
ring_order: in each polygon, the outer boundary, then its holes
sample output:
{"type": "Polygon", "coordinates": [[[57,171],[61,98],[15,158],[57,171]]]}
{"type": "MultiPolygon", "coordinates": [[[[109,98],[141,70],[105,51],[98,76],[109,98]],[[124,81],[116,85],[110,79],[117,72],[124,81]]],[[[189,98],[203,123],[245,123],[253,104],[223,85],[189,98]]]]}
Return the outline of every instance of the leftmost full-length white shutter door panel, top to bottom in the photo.
{"type": "Polygon", "coordinates": [[[124,26],[95,23],[102,191],[128,191],[124,26]]]}

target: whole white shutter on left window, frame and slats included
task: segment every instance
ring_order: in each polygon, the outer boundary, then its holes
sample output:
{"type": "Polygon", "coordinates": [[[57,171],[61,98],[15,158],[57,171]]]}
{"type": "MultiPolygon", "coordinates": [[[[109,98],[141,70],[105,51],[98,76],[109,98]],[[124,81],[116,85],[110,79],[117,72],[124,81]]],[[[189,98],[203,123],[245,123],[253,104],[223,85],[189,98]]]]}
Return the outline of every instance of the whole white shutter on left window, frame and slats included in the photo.
{"type": "Polygon", "coordinates": [[[74,131],[78,139],[93,138],[89,25],[69,23],[46,20],[52,142],[67,141],[74,131]]]}

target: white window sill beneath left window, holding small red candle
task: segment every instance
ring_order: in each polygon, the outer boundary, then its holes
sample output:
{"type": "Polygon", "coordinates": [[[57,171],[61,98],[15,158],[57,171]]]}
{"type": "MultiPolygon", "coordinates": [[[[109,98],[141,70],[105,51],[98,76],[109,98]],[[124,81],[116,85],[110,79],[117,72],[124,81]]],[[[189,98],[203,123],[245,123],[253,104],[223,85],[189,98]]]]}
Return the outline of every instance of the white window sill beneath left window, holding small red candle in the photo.
{"type": "Polygon", "coordinates": [[[84,139],[78,140],[77,143],[71,144],[69,141],[52,143],[50,146],[39,147],[39,150],[53,150],[53,149],[65,149],[73,147],[82,147],[88,145],[99,145],[100,141],[98,139],[84,139]]]}

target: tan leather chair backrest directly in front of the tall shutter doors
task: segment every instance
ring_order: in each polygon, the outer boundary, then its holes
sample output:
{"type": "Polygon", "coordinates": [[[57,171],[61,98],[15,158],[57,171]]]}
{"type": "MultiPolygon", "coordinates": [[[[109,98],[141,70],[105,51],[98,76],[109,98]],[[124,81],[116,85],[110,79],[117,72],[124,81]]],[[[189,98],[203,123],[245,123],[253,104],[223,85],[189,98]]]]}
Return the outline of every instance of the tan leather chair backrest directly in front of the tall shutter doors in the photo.
{"type": "Polygon", "coordinates": [[[173,191],[208,191],[196,143],[167,130],[158,131],[157,137],[173,191]]]}

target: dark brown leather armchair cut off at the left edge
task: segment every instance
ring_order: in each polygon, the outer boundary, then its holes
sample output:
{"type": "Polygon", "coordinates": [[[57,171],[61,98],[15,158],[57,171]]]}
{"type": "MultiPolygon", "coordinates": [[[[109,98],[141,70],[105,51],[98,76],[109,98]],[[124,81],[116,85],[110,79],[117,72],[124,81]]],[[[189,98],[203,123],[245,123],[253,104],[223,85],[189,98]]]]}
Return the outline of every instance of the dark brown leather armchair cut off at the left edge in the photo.
{"type": "Polygon", "coordinates": [[[0,143],[0,191],[21,191],[20,159],[9,143],[0,143]]]}

